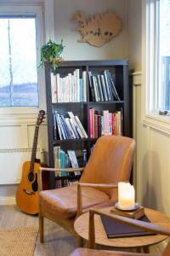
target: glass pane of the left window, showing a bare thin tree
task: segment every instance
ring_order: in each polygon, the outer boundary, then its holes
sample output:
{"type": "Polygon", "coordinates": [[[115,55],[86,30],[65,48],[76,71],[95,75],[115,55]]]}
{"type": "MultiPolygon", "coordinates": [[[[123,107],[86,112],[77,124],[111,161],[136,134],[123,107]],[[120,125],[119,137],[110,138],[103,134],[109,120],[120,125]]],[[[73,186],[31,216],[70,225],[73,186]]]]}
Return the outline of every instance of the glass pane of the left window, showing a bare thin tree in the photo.
{"type": "Polygon", "coordinates": [[[38,107],[35,15],[0,16],[0,107],[38,107]]]}

